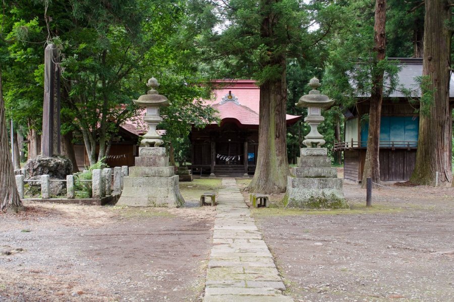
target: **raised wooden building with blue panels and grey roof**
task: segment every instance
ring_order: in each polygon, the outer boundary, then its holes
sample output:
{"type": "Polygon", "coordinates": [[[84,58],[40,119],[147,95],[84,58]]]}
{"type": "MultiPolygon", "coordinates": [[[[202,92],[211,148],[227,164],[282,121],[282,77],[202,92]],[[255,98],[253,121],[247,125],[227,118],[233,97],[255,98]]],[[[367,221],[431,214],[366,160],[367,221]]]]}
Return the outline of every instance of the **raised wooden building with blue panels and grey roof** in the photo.
{"type": "MultiPolygon", "coordinates": [[[[399,85],[417,91],[415,77],[422,74],[422,59],[399,58],[401,71],[399,85]]],[[[454,81],[451,77],[450,97],[454,99],[454,81]]],[[[419,94],[419,95],[418,95],[419,94]]],[[[345,140],[335,143],[334,150],[344,152],[344,179],[361,182],[367,150],[369,124],[363,120],[369,113],[369,96],[359,96],[356,105],[345,116],[345,140]]],[[[383,98],[380,122],[380,178],[381,181],[407,181],[416,162],[419,114],[415,105],[399,90],[383,98]]]]}

